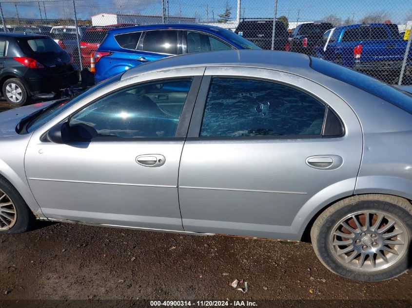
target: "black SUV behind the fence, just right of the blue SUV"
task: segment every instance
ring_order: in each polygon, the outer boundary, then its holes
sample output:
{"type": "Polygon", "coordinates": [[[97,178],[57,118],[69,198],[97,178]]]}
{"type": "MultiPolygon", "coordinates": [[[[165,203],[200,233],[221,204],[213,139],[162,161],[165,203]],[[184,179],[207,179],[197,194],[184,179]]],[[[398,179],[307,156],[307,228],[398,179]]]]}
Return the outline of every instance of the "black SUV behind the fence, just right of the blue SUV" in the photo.
{"type": "MultiPolygon", "coordinates": [[[[262,49],[272,49],[273,19],[243,19],[239,22],[235,33],[250,40],[262,49]]],[[[275,50],[288,49],[288,31],[285,24],[275,21],[275,50]]]]}

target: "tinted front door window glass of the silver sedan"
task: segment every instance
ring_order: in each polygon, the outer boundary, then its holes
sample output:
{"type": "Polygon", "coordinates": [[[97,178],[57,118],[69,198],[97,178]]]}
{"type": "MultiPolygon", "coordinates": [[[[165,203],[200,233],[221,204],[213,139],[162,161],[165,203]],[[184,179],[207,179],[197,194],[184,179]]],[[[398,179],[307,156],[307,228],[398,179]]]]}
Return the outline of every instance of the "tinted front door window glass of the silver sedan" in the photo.
{"type": "Polygon", "coordinates": [[[191,83],[162,80],[116,91],[80,110],[70,125],[88,125],[98,136],[172,138],[191,83]]]}

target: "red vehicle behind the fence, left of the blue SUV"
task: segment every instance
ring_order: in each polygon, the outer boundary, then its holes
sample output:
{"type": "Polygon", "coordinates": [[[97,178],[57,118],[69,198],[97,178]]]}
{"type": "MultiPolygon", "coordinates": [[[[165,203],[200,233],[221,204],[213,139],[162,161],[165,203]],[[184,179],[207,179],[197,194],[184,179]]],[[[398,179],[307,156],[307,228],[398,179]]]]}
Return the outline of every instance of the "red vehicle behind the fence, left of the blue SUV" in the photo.
{"type": "Polygon", "coordinates": [[[107,35],[109,27],[87,28],[80,41],[81,64],[90,66],[90,54],[94,53],[107,35]]]}

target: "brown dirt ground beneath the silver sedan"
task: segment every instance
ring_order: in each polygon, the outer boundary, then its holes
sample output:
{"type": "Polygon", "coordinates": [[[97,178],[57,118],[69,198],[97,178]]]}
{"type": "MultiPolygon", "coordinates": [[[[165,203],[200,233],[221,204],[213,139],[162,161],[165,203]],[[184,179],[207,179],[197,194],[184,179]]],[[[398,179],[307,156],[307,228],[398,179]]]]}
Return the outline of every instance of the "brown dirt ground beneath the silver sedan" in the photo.
{"type": "Polygon", "coordinates": [[[308,243],[42,222],[35,231],[0,236],[0,307],[28,307],[25,299],[81,299],[90,307],[106,299],[352,300],[345,307],[407,300],[390,304],[411,307],[412,271],[361,283],[329,272],[308,243]],[[230,286],[235,279],[248,282],[246,294],[230,286]]]}

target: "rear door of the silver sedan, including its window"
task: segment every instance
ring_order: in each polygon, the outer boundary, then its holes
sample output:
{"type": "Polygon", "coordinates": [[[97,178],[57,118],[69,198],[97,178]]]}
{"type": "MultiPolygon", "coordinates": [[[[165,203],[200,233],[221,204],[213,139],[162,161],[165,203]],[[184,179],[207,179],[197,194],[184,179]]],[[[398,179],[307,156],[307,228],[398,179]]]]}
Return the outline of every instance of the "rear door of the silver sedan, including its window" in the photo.
{"type": "Polygon", "coordinates": [[[184,229],[296,239],[309,213],[353,193],[361,154],[355,114],[324,87],[207,68],[179,169],[184,229]]]}

